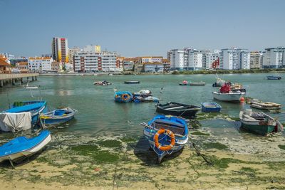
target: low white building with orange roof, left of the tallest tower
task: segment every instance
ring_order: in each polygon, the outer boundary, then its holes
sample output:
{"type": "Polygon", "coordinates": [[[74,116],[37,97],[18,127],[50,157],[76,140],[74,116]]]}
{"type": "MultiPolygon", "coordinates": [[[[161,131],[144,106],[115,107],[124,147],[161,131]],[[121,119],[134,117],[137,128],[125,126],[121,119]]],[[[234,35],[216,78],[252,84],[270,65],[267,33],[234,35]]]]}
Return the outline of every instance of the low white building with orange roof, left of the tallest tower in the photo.
{"type": "Polygon", "coordinates": [[[31,57],[28,58],[28,70],[36,73],[45,73],[51,71],[53,58],[31,57]]]}

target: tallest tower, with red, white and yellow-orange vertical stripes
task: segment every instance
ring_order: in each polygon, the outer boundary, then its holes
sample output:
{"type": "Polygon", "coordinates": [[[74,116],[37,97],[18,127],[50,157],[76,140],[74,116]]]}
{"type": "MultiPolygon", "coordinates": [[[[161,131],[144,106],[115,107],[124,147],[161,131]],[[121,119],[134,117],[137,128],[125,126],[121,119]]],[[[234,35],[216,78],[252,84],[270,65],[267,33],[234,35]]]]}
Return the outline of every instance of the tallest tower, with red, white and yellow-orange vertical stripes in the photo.
{"type": "Polygon", "coordinates": [[[61,63],[68,63],[68,40],[67,38],[53,38],[51,44],[53,60],[61,63]]]}

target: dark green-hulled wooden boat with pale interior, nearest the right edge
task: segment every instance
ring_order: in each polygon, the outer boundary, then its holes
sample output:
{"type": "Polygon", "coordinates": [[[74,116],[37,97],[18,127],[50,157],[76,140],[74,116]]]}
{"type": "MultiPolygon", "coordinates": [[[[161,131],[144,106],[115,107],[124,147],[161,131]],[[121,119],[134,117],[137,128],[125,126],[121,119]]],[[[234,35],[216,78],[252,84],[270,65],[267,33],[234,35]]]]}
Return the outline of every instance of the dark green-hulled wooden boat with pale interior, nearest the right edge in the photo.
{"type": "Polygon", "coordinates": [[[241,111],[239,112],[239,119],[242,122],[242,127],[249,132],[267,135],[275,130],[278,131],[277,120],[264,112],[241,111]]]}

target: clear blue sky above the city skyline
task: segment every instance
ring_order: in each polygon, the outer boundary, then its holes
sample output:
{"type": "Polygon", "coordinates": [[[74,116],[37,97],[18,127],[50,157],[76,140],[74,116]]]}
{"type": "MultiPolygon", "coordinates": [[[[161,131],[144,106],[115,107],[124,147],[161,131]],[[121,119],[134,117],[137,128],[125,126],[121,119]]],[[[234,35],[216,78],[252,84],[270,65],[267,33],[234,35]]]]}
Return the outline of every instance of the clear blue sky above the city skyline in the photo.
{"type": "Polygon", "coordinates": [[[51,53],[56,36],[126,57],[285,46],[284,0],[0,0],[0,10],[0,53],[15,56],[51,53]]]}

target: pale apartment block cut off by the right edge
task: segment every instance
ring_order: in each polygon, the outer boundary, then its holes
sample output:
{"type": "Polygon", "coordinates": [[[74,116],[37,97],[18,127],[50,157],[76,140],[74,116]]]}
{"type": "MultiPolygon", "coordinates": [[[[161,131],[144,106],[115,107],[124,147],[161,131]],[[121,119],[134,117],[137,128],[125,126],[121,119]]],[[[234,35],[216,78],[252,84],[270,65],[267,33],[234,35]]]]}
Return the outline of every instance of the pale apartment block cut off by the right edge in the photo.
{"type": "Polygon", "coordinates": [[[285,47],[266,48],[263,61],[263,68],[284,68],[285,47]]]}

